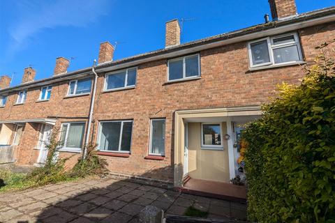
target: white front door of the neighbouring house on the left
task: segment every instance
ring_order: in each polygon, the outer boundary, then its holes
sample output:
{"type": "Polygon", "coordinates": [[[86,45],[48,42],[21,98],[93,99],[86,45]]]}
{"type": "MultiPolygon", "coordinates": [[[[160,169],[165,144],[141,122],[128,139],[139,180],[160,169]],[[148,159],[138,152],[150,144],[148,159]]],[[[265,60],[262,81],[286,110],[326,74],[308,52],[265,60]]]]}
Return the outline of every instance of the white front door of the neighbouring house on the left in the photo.
{"type": "Polygon", "coordinates": [[[43,124],[42,130],[40,131],[40,139],[38,141],[38,154],[37,163],[45,164],[47,160],[47,144],[50,142],[50,135],[52,132],[52,125],[43,124]]]}

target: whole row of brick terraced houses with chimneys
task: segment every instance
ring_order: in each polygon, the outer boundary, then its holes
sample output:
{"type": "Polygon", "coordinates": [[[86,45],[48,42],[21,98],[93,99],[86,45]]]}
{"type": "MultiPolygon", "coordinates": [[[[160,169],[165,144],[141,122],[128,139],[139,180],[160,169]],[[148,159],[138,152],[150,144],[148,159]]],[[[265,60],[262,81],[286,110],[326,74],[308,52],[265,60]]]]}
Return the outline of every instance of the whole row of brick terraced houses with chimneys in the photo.
{"type": "Polygon", "coordinates": [[[335,7],[298,14],[294,0],[269,6],[271,21],[230,33],[181,44],[172,20],[164,49],[114,61],[105,42],[92,67],[67,72],[59,57],[52,77],[34,80],[25,68],[22,84],[9,86],[3,76],[0,144],[17,164],[43,165],[57,126],[69,166],[93,141],[117,176],[195,191],[225,185],[239,197],[230,180],[243,176],[241,124],[260,117],[277,84],[299,83],[315,47],[335,37],[335,7]]]}

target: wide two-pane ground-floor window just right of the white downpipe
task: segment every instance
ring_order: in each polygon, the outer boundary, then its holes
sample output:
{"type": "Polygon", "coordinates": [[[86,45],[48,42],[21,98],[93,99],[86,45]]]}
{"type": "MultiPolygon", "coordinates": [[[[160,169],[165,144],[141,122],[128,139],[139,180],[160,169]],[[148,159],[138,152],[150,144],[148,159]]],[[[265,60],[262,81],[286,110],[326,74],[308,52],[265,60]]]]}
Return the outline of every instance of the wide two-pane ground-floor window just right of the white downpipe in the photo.
{"type": "Polygon", "coordinates": [[[129,153],[133,121],[103,121],[100,123],[99,151],[129,153]]]}

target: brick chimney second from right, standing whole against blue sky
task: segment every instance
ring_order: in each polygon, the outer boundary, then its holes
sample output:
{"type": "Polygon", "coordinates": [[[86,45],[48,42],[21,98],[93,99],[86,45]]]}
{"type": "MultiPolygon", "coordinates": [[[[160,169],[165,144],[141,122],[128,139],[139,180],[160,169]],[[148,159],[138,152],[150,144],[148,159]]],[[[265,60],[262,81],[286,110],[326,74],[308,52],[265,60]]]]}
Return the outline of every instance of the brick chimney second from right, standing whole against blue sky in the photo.
{"type": "Polygon", "coordinates": [[[180,26],[178,20],[165,23],[165,48],[180,45],[180,26]]]}

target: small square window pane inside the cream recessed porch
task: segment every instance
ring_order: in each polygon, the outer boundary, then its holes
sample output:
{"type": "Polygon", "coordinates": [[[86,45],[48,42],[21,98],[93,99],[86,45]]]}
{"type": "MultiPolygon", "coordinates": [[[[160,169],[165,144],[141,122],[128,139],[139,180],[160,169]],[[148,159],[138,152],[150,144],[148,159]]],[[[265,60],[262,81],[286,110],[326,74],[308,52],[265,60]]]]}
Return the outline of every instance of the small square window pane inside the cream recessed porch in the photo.
{"type": "Polygon", "coordinates": [[[204,145],[221,145],[220,124],[203,124],[202,142],[204,145]]]}

